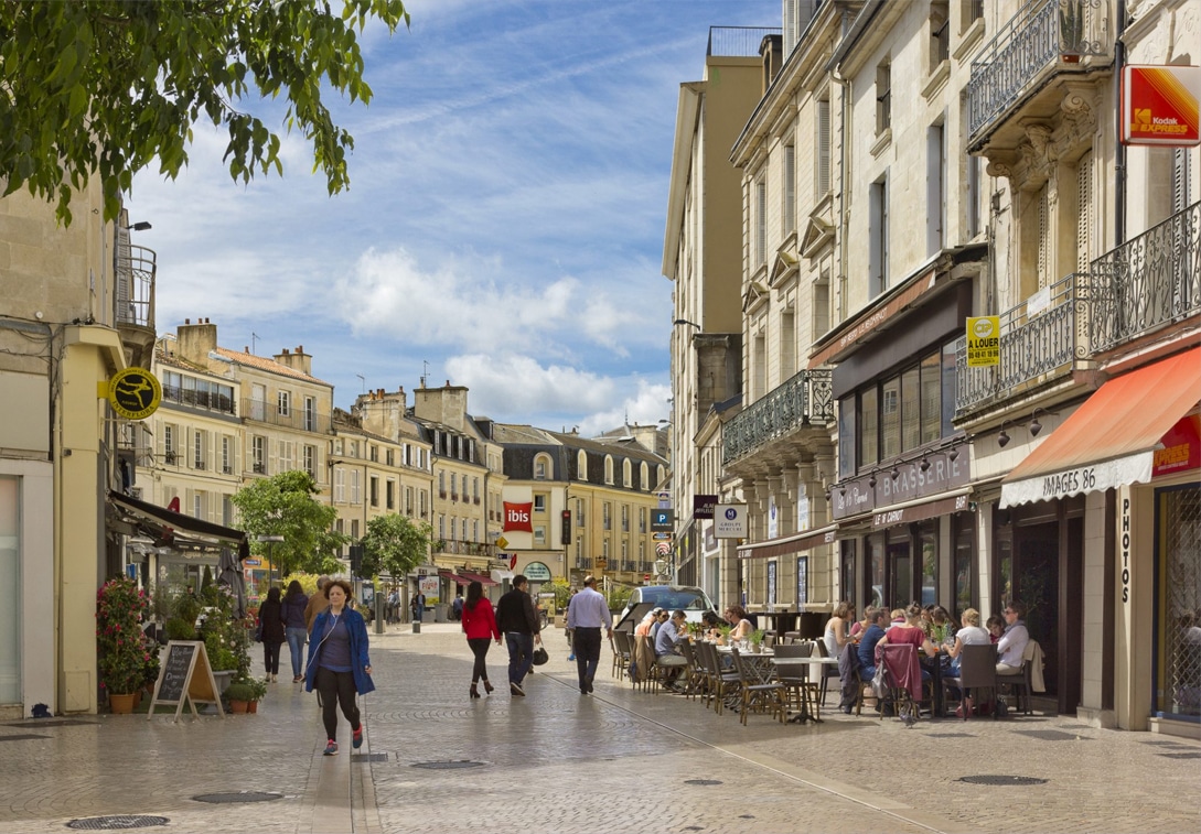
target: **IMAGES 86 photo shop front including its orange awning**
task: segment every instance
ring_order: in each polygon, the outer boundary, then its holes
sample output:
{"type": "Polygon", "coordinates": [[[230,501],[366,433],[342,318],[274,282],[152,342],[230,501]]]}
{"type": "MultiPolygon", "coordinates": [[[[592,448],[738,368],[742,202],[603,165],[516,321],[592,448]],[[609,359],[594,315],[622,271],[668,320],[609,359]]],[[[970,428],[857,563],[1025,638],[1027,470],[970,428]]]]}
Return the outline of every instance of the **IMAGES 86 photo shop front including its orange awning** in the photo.
{"type": "Polygon", "coordinates": [[[1199,370],[1115,372],[1002,481],[998,592],[1041,610],[1048,690],[1100,726],[1201,730],[1199,370]]]}

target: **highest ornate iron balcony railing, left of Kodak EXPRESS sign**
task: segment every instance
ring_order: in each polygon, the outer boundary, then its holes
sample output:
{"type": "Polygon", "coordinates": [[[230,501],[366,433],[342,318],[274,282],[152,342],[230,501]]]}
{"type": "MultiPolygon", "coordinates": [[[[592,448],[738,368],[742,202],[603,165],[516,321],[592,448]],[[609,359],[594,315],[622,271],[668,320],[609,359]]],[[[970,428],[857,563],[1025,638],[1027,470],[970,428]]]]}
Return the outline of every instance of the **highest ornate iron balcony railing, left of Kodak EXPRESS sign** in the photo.
{"type": "Polygon", "coordinates": [[[1030,0],[972,62],[968,132],[976,138],[1052,66],[1112,54],[1109,0],[1030,0]]]}

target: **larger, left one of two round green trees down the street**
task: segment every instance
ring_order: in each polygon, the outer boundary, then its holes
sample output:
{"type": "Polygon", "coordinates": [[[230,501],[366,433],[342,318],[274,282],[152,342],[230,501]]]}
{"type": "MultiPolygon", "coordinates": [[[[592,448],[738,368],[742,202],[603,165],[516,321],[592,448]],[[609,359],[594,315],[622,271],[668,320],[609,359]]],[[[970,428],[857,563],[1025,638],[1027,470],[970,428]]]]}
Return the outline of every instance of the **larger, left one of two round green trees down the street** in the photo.
{"type": "Polygon", "coordinates": [[[251,553],[267,556],[286,577],[293,570],[310,574],[341,569],[337,551],[349,541],[333,529],[337,510],[317,500],[317,484],[307,472],[281,472],[252,481],[229,499],[238,508],[239,527],[250,538],[251,553]],[[283,541],[258,541],[281,535],[283,541]]]}

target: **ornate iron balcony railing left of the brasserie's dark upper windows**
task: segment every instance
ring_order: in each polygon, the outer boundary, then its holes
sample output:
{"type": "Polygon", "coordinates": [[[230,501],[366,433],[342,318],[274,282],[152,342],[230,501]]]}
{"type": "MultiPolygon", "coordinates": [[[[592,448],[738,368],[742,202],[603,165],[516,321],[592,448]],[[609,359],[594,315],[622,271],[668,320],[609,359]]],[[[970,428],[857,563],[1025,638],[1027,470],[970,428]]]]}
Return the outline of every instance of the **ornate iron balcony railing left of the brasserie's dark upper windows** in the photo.
{"type": "Polygon", "coordinates": [[[746,457],[797,428],[825,425],[832,419],[830,372],[801,371],[725,424],[722,463],[746,457]]]}

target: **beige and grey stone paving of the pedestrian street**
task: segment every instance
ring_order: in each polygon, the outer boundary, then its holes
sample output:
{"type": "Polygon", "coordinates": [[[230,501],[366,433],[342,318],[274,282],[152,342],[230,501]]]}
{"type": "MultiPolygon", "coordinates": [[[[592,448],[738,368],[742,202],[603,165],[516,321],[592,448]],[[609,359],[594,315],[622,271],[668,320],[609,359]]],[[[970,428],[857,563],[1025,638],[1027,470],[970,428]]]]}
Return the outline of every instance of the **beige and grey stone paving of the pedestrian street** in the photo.
{"type": "MultiPolygon", "coordinates": [[[[0,832],[165,817],[178,832],[1195,832],[1201,744],[1072,718],[799,727],[715,715],[609,676],[581,696],[562,632],[551,661],[470,700],[455,624],[372,635],[366,744],[321,755],[316,701],[271,685],[257,715],[0,724],[0,832]],[[1034,784],[975,785],[962,776],[1034,784]],[[241,793],[250,792],[250,793],[241,793]],[[267,794],[267,802],[240,802],[267,794]],[[226,794],[211,804],[196,797],[226,794]]],[[[285,658],[285,660],[287,660],[285,658]]],[[[832,706],[832,698],[831,698],[832,706]]],[[[145,822],[145,820],[138,820],[145,822]]]]}

